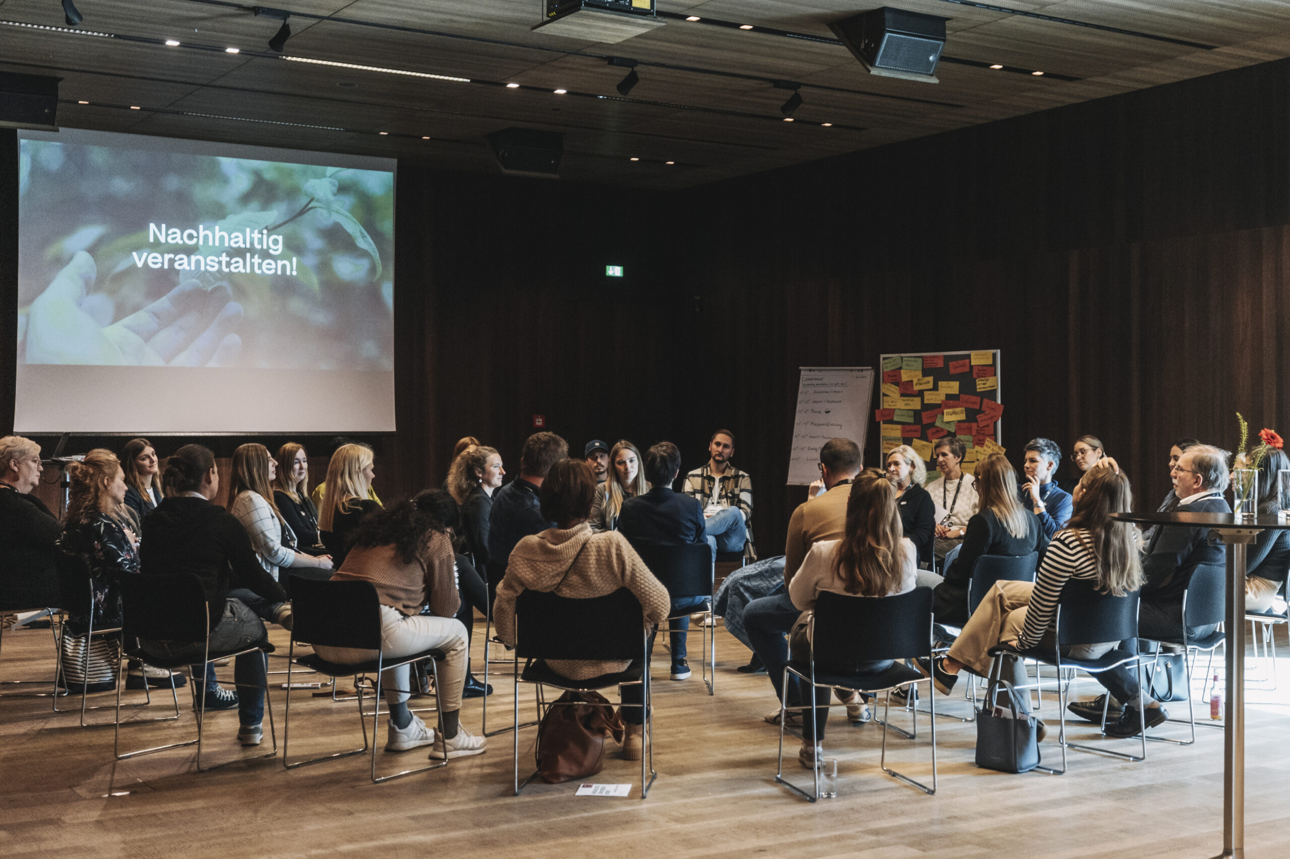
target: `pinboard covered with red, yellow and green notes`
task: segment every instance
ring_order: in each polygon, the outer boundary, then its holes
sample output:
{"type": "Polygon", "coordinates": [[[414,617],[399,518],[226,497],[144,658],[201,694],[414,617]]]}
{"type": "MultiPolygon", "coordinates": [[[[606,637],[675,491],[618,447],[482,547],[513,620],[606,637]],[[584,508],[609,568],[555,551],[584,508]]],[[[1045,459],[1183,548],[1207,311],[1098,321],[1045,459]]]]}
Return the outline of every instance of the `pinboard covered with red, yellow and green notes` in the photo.
{"type": "Polygon", "coordinates": [[[931,462],[937,440],[953,435],[968,449],[962,468],[971,473],[979,459],[1004,451],[998,350],[884,355],[878,373],[873,417],[884,457],[909,445],[931,462]]]}

